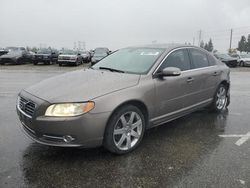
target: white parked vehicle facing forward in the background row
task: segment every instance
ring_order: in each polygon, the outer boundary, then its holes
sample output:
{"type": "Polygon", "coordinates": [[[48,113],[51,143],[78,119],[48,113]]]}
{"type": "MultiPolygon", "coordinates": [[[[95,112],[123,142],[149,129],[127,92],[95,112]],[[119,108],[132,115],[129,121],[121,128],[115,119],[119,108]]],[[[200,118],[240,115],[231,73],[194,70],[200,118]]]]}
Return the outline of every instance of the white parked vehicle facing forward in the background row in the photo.
{"type": "Polygon", "coordinates": [[[77,66],[83,63],[83,57],[80,52],[74,50],[63,50],[60,52],[57,62],[59,66],[62,66],[63,64],[77,66]]]}

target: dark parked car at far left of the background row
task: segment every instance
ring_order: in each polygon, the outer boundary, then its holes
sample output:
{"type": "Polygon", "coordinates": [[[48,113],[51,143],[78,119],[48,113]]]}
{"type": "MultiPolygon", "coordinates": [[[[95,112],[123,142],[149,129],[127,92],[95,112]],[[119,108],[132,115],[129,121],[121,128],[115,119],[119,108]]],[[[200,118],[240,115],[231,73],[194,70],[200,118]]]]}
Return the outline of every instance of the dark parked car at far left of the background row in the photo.
{"type": "Polygon", "coordinates": [[[23,64],[31,62],[29,52],[24,47],[7,47],[6,54],[0,56],[0,64],[23,64]]]}

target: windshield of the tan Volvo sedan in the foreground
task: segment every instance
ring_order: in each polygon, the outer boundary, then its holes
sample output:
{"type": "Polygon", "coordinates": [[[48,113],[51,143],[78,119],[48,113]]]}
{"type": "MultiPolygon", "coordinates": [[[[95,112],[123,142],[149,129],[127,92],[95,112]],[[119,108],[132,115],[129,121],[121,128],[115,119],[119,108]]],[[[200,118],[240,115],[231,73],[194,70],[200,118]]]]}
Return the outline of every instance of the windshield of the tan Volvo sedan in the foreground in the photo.
{"type": "Polygon", "coordinates": [[[92,68],[105,67],[127,73],[146,74],[163,51],[164,49],[156,48],[126,48],[107,56],[92,68]]]}

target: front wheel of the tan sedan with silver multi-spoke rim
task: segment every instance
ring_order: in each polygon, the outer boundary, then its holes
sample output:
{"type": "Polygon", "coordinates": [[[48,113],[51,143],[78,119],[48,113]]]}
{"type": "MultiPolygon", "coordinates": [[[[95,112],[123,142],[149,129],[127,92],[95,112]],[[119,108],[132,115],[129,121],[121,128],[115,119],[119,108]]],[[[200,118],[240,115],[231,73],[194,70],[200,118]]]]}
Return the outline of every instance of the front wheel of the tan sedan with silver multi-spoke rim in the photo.
{"type": "Polygon", "coordinates": [[[145,132],[145,118],[133,105],[116,110],[111,116],[104,135],[104,147],[115,154],[133,151],[140,144],[145,132]]]}

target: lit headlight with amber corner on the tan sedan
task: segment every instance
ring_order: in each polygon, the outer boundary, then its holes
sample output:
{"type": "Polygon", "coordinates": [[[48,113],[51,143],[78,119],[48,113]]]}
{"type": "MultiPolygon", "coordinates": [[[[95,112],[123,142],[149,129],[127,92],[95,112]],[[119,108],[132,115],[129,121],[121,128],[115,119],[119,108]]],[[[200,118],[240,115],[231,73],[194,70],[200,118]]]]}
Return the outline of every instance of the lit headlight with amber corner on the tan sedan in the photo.
{"type": "Polygon", "coordinates": [[[47,108],[45,116],[78,116],[91,111],[94,107],[94,102],[53,104],[47,108]]]}

